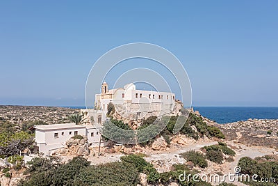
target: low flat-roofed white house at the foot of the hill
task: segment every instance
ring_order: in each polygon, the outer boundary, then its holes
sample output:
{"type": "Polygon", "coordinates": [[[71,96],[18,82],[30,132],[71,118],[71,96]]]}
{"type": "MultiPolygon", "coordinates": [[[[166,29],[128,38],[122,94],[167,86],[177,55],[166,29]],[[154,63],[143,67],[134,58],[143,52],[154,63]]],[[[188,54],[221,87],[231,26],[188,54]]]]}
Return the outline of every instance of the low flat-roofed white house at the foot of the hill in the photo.
{"type": "MultiPolygon", "coordinates": [[[[91,146],[99,146],[101,125],[76,125],[75,123],[35,125],[35,146],[40,153],[51,155],[74,135],[88,137],[91,146]]],[[[101,141],[101,146],[103,142],[101,141]]]]}

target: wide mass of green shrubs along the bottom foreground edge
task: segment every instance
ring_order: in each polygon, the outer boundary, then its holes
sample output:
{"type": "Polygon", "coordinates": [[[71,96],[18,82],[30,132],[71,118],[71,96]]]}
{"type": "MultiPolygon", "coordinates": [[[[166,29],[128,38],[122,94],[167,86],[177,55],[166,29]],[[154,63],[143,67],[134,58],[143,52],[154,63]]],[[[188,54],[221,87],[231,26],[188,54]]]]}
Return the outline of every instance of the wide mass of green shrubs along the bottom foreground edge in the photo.
{"type": "MultiPolygon", "coordinates": [[[[20,186],[28,185],[138,185],[139,173],[147,174],[147,182],[152,185],[171,182],[180,185],[211,185],[205,182],[179,180],[179,175],[195,174],[182,164],[174,165],[174,170],[158,173],[156,169],[138,155],[121,157],[121,162],[90,165],[83,157],[74,157],[66,164],[60,164],[56,157],[36,157],[28,163],[26,173],[30,174],[19,182],[20,186]]],[[[8,172],[8,171],[7,171],[8,172]]]]}

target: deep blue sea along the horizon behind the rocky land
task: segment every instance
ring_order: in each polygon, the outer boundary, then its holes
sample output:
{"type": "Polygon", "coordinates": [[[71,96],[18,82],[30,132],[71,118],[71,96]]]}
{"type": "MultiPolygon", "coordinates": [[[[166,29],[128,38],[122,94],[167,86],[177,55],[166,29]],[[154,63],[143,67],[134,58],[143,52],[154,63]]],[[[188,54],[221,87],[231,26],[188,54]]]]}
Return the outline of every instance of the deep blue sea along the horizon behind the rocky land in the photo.
{"type": "MultiPolygon", "coordinates": [[[[85,107],[70,108],[85,109],[85,107]]],[[[249,118],[278,119],[278,107],[193,107],[193,109],[221,124],[246,121],[249,118]]]]}

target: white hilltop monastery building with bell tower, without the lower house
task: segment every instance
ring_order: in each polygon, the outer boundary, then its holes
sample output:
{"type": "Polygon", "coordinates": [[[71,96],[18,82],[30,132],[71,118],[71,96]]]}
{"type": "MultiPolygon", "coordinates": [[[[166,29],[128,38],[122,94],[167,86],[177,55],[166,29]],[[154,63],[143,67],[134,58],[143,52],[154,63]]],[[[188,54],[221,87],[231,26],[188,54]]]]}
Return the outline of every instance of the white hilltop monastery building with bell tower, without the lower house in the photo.
{"type": "Polygon", "coordinates": [[[95,95],[95,107],[104,113],[112,102],[121,115],[137,114],[137,118],[151,115],[171,114],[175,105],[174,93],[136,90],[135,84],[126,84],[123,88],[108,89],[108,84],[101,85],[101,93],[95,95]]]}

